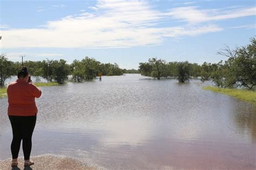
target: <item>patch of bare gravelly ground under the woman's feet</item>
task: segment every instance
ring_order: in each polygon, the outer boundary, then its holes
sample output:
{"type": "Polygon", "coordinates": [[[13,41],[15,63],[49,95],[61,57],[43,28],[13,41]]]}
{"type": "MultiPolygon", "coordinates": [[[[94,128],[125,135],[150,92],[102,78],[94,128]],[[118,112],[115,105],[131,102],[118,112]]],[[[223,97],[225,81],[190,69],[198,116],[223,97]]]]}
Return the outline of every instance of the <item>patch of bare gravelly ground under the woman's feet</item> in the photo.
{"type": "Polygon", "coordinates": [[[31,157],[30,160],[34,161],[35,165],[26,168],[23,166],[23,158],[18,158],[16,168],[11,168],[11,159],[0,160],[0,169],[99,169],[77,159],[52,154],[31,157]]]}

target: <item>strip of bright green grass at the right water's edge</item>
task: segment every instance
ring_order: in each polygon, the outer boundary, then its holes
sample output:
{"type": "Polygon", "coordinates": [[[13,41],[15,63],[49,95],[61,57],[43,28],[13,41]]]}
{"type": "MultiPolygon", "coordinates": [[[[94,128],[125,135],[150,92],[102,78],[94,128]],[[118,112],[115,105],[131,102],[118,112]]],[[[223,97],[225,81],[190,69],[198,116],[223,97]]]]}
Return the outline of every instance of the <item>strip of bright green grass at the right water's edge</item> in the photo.
{"type": "Polygon", "coordinates": [[[239,100],[256,104],[256,91],[245,89],[217,88],[212,86],[203,87],[205,90],[211,90],[216,93],[232,96],[239,100]]]}

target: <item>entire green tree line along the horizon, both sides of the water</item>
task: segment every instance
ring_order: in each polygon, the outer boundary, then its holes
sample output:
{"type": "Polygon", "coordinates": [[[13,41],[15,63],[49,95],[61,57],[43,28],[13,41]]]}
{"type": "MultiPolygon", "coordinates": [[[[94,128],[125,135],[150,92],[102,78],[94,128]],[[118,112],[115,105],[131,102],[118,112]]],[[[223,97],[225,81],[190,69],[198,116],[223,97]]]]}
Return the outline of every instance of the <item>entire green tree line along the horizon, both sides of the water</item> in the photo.
{"type": "MultiPolygon", "coordinates": [[[[123,73],[140,73],[153,79],[177,79],[179,82],[188,82],[194,78],[201,81],[212,80],[217,87],[246,87],[254,89],[256,86],[256,40],[251,38],[247,46],[230,49],[226,46],[218,52],[228,59],[218,63],[166,62],[162,59],[151,58],[148,62],[140,62],[139,69],[121,69],[117,63],[101,63],[93,58],[85,57],[81,61],[74,60],[68,64],[65,60],[25,61],[32,76],[43,77],[48,82],[56,81],[63,84],[72,75],[74,82],[83,82],[95,79],[102,75],[123,75],[123,73]]],[[[12,62],[4,54],[0,56],[1,85],[6,79],[17,75],[21,62],[12,62]]]]}

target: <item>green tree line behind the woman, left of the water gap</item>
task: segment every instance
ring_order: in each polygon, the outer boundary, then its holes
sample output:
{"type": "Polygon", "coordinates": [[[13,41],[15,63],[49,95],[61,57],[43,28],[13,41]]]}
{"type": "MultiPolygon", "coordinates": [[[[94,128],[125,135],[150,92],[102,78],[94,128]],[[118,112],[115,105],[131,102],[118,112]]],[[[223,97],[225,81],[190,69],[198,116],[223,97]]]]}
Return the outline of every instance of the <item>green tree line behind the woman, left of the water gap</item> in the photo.
{"type": "MultiPolygon", "coordinates": [[[[17,75],[17,71],[21,68],[21,62],[9,61],[2,54],[0,57],[1,86],[12,76],[17,75]]],[[[29,74],[43,77],[48,82],[56,81],[63,84],[68,80],[68,76],[72,75],[72,81],[82,82],[85,80],[95,79],[99,73],[102,75],[123,75],[124,71],[117,63],[101,63],[93,58],[85,57],[83,60],[74,60],[68,64],[65,60],[43,60],[43,61],[24,61],[23,66],[28,67],[29,74]]]]}

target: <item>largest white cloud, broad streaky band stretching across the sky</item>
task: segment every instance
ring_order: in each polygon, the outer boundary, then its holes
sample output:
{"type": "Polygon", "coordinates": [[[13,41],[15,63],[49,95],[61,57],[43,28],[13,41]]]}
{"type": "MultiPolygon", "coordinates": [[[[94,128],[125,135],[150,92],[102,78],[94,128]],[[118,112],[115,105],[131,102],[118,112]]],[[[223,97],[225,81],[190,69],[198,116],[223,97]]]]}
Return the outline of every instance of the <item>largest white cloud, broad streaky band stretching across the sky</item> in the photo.
{"type": "Polygon", "coordinates": [[[117,48],[162,44],[166,37],[197,36],[221,31],[210,22],[255,15],[255,8],[199,10],[194,6],[161,12],[144,1],[99,1],[95,11],[66,16],[47,22],[40,29],[0,30],[2,48],[62,47],[117,48]],[[160,26],[173,19],[180,26],[160,26]],[[195,24],[191,24],[195,23],[195,24]]]}

